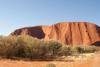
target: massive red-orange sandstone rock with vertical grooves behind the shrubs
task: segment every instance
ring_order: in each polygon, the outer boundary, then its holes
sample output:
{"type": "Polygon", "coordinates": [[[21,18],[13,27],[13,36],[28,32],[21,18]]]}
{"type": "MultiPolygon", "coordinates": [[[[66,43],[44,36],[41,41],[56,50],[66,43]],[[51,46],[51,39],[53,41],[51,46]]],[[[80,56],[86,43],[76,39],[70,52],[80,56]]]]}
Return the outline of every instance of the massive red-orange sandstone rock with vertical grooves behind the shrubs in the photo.
{"type": "Polygon", "coordinates": [[[61,22],[51,26],[24,27],[15,30],[11,35],[54,39],[69,45],[91,45],[100,41],[100,27],[88,22],[61,22]]]}

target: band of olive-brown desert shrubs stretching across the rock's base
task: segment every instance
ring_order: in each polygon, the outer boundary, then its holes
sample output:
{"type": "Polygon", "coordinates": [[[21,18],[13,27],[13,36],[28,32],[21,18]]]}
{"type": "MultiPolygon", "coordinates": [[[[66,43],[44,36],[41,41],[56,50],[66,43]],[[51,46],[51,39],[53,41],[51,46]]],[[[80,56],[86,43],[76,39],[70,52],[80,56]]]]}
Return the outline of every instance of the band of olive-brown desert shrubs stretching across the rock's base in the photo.
{"type": "Polygon", "coordinates": [[[0,57],[48,59],[99,51],[96,46],[68,46],[54,40],[45,41],[28,35],[0,36],[0,57]]]}

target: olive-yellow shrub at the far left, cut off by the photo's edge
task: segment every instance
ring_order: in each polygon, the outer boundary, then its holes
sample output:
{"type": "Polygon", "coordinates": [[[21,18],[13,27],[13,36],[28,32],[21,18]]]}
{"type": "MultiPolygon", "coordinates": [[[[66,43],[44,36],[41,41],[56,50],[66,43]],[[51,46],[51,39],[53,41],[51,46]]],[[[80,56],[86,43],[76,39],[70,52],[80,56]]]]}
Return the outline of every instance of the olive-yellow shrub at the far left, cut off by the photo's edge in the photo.
{"type": "Polygon", "coordinates": [[[0,38],[0,55],[13,56],[15,54],[16,38],[15,37],[2,37],[0,38]]]}

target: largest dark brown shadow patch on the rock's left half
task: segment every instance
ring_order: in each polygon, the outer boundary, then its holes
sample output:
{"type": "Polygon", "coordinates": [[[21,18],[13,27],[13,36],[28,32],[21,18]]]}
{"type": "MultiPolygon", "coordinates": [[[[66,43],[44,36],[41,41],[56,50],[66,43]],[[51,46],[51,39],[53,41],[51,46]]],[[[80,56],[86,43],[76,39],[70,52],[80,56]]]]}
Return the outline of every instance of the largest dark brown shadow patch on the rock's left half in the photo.
{"type": "Polygon", "coordinates": [[[28,34],[31,35],[32,37],[36,37],[38,39],[42,39],[45,37],[45,34],[41,26],[30,28],[28,31],[29,31],[28,34]]]}

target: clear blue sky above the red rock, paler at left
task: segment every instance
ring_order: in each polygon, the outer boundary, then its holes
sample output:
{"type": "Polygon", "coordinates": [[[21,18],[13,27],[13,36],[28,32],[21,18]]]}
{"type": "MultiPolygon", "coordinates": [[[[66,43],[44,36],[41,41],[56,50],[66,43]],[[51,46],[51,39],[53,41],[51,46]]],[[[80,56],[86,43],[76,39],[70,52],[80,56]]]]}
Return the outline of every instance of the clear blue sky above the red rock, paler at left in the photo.
{"type": "Polygon", "coordinates": [[[0,35],[22,27],[65,21],[100,26],[100,0],[0,0],[0,35]]]}

